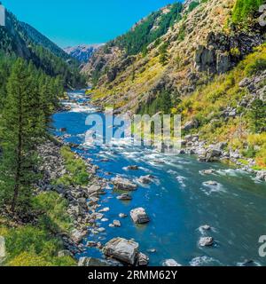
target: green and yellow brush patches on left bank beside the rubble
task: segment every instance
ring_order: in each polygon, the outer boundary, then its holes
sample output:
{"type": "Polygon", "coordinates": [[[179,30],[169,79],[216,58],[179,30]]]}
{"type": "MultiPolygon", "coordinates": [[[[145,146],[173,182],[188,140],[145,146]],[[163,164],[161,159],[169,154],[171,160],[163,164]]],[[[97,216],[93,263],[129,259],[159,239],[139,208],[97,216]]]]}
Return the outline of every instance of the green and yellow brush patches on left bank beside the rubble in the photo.
{"type": "MultiPolygon", "coordinates": [[[[76,158],[69,147],[61,148],[69,174],[55,181],[60,185],[88,185],[89,175],[81,158],[76,158]]],[[[0,235],[6,241],[8,252],[4,265],[8,266],[73,266],[70,256],[59,257],[64,249],[57,233],[70,233],[73,220],[67,213],[67,201],[59,193],[40,193],[32,201],[38,216],[36,225],[16,225],[0,217],[0,235]]]]}

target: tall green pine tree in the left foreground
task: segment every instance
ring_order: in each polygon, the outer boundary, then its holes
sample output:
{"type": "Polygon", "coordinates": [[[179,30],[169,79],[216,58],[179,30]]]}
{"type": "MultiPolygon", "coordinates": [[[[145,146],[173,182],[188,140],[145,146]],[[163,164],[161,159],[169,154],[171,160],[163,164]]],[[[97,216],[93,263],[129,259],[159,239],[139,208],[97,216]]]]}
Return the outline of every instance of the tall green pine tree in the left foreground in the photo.
{"type": "Polygon", "coordinates": [[[35,70],[17,59],[7,83],[7,97],[1,120],[0,201],[12,212],[27,209],[35,180],[35,146],[43,133],[37,102],[35,70]]]}

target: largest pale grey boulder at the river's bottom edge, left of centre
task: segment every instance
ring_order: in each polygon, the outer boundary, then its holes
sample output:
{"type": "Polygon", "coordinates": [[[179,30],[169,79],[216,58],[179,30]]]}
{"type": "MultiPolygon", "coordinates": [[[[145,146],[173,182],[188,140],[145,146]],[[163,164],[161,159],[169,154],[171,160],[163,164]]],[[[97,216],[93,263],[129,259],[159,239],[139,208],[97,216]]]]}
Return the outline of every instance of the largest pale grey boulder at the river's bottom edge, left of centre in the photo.
{"type": "Polygon", "coordinates": [[[106,243],[103,252],[123,263],[134,265],[137,261],[139,245],[136,241],[128,241],[123,238],[115,238],[106,243]]]}

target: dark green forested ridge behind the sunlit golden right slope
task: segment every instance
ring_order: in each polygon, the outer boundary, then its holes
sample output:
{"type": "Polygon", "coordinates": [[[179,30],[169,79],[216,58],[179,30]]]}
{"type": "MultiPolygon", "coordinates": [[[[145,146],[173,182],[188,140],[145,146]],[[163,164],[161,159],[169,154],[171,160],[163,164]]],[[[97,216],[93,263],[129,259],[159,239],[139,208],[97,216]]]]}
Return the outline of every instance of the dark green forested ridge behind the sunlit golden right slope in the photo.
{"type": "Polygon", "coordinates": [[[137,22],[127,34],[99,48],[83,68],[90,82],[98,86],[112,83],[127,67],[132,67],[139,52],[146,55],[148,45],[165,35],[168,28],[181,19],[182,9],[182,4],[177,3],[153,12],[137,22]]]}

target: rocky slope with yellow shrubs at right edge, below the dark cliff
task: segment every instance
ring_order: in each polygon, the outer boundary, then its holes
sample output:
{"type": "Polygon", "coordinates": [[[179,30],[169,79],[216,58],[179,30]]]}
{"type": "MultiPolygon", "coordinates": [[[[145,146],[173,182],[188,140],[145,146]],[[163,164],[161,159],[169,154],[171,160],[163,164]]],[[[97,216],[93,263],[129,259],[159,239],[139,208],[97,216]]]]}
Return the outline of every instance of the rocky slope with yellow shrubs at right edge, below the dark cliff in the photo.
{"type": "Polygon", "coordinates": [[[248,170],[265,170],[266,45],[257,47],[231,72],[215,76],[171,111],[182,114],[184,145],[200,154],[201,160],[220,157],[248,170]],[[207,156],[208,148],[217,150],[216,156],[207,156]]]}

